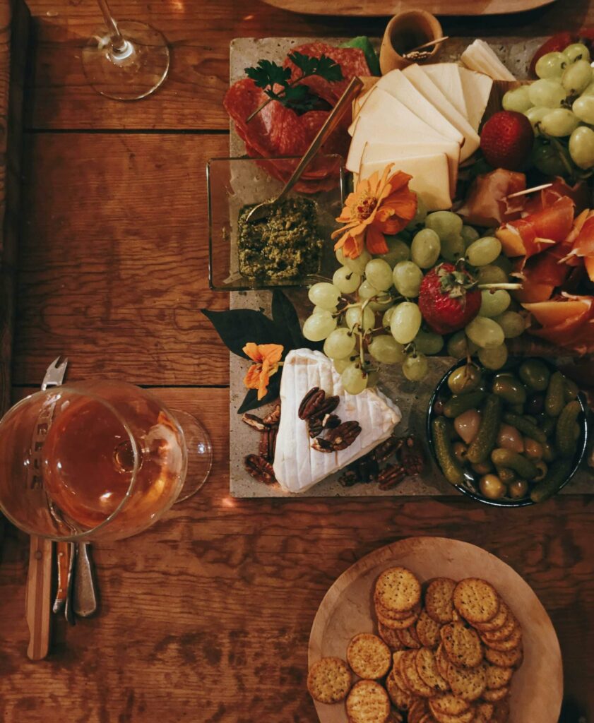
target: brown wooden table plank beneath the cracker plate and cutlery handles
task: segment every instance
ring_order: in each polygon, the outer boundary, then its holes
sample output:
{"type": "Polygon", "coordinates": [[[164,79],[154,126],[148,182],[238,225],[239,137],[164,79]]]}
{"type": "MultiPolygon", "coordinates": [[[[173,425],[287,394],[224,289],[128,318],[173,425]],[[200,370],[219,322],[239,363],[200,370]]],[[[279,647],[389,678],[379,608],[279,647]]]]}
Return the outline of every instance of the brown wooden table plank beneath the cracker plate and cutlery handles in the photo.
{"type": "MultiPolygon", "coordinates": [[[[307,640],[331,583],[389,542],[437,535],[478,544],[517,570],[559,635],[565,697],[594,715],[591,502],[499,510],[447,500],[233,500],[226,390],[155,390],[213,438],[213,476],[153,529],[93,548],[98,617],[56,620],[47,662],[27,662],[26,545],[0,567],[0,714],[7,723],[311,723],[307,640]]],[[[563,718],[577,723],[577,712],[563,718]]]]}

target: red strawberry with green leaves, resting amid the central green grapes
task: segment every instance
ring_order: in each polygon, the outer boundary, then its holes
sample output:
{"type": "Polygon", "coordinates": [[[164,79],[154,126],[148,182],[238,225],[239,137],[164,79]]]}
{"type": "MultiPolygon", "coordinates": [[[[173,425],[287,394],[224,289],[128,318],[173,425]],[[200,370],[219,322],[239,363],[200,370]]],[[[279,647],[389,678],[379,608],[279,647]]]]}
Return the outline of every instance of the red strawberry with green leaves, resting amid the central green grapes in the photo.
{"type": "Polygon", "coordinates": [[[423,319],[438,334],[463,329],[480,309],[480,291],[463,265],[443,263],[423,278],[419,292],[423,319]]]}

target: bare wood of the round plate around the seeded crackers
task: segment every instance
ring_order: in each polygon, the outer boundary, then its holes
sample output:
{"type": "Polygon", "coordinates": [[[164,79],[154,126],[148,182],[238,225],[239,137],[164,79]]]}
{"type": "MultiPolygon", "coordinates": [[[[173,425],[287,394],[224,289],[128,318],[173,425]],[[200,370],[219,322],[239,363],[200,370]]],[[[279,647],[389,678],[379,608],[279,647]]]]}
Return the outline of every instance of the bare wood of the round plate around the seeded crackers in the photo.
{"type": "MultiPolygon", "coordinates": [[[[376,632],[373,585],[393,565],[412,570],[423,583],[435,577],[488,580],[522,625],[524,662],[512,679],[510,723],[557,723],[563,698],[563,667],[551,619],[533,589],[515,570],[480,547],[445,537],[409,537],[362,557],[334,582],[310,633],[309,664],[321,657],[346,659],[356,633],[376,632]]],[[[344,703],[315,702],[321,723],[347,723],[344,703]]]]}

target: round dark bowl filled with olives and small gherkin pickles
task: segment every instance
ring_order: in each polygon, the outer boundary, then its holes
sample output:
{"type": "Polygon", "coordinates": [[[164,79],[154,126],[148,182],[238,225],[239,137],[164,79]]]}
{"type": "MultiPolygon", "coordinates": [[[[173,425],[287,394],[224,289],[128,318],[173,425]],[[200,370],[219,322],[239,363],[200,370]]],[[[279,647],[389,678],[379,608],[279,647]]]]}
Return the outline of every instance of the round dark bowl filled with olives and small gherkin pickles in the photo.
{"type": "Polygon", "coordinates": [[[545,359],[496,372],[462,359],[430,398],[427,437],[448,482],[478,502],[524,507],[556,495],[585,455],[585,398],[545,359]]]}

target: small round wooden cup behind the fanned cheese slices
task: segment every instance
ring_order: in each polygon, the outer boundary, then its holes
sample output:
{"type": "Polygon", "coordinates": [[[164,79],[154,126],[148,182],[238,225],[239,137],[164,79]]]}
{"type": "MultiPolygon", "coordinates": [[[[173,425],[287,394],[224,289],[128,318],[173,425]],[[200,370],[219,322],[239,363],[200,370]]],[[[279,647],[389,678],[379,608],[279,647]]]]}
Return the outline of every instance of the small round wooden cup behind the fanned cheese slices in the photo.
{"type": "MultiPolygon", "coordinates": [[[[380,68],[382,75],[396,68],[405,68],[415,60],[404,58],[404,54],[430,40],[443,38],[444,31],[435,15],[425,10],[409,10],[394,15],[383,33],[380,48],[380,68]]],[[[435,46],[426,62],[433,58],[439,46],[435,46]]]]}

